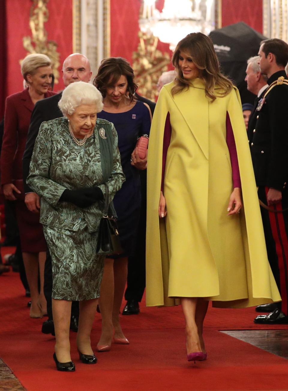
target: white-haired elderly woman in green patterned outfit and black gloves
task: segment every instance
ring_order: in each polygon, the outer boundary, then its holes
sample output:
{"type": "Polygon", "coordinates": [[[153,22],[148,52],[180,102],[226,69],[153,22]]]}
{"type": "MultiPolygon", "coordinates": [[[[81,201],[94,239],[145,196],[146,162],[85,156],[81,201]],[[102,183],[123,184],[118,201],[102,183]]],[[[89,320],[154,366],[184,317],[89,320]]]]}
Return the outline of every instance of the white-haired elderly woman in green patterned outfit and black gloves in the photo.
{"type": "Polygon", "coordinates": [[[69,341],[72,300],[80,302],[79,357],[97,362],[90,333],[104,267],[104,256],[96,254],[101,201],[105,184],[112,201],[125,180],[115,128],[97,119],[102,107],[102,95],[91,84],[66,87],[59,101],[64,117],[41,124],[27,178],[41,197],[40,222],[52,257],[54,360],[62,371],[75,370],[69,341]]]}

